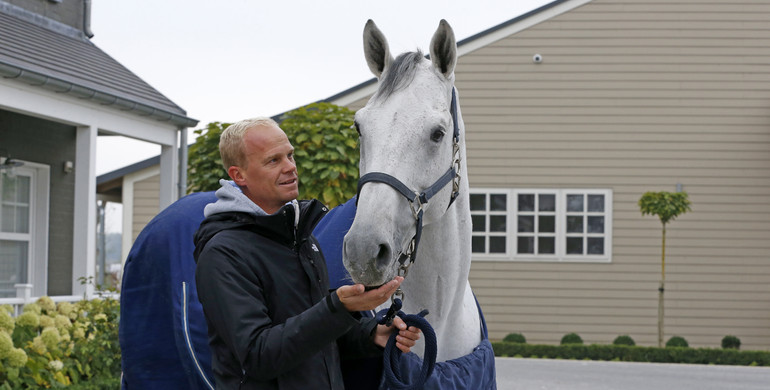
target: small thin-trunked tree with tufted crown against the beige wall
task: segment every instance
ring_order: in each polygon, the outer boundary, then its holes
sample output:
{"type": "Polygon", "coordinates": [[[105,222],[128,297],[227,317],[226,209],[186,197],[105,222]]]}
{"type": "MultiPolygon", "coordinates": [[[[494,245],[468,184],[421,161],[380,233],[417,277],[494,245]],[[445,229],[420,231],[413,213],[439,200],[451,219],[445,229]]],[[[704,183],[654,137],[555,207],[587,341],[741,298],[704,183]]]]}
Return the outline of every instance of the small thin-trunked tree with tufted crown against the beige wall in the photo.
{"type": "Polygon", "coordinates": [[[663,346],[663,294],[666,288],[666,224],[691,210],[686,192],[645,192],[639,199],[642,215],[657,215],[663,225],[660,287],[658,288],[658,347],[663,346]]]}

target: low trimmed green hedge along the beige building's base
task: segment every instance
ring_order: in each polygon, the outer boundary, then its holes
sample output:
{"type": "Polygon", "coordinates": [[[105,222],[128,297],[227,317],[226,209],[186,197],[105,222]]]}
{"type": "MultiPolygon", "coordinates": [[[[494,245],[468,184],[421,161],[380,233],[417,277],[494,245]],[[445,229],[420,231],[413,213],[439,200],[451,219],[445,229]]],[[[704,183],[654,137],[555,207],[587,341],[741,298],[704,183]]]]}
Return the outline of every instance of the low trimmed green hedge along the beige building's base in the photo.
{"type": "Polygon", "coordinates": [[[492,342],[495,356],[573,360],[619,360],[647,363],[770,366],[770,351],[735,349],[636,347],[627,345],[533,345],[492,342]]]}

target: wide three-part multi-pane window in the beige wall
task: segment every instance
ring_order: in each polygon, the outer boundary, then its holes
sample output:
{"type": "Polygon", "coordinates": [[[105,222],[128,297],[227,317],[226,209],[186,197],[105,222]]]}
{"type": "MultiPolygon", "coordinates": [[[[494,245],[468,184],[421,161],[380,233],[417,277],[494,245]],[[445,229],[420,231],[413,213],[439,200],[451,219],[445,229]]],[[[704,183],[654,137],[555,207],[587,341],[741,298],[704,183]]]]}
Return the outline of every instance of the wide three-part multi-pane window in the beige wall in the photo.
{"type": "Polygon", "coordinates": [[[610,261],[609,190],[471,190],[479,259],[610,261]]]}

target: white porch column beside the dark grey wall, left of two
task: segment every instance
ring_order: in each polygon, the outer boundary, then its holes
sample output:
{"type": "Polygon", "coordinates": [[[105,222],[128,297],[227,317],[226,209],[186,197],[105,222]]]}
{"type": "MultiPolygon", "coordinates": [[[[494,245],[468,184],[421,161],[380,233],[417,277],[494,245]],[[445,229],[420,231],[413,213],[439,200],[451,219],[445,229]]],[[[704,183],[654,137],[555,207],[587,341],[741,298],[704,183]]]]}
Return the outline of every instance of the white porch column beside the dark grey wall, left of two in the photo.
{"type": "Polygon", "coordinates": [[[72,295],[93,295],[78,278],[96,273],[96,126],[79,126],[75,157],[75,224],[72,243],[72,295]]]}

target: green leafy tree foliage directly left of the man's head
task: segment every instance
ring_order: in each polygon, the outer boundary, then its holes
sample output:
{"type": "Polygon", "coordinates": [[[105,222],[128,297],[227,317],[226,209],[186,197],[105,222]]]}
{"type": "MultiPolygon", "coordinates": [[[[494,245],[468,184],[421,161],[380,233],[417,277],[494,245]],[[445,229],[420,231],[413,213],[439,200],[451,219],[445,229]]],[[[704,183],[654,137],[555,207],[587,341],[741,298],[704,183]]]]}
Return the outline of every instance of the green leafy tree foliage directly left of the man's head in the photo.
{"type": "Polygon", "coordinates": [[[187,193],[219,189],[219,179],[226,179],[227,170],[219,157],[219,136],[230,123],[211,122],[197,129],[195,142],[187,156],[187,193]]]}

